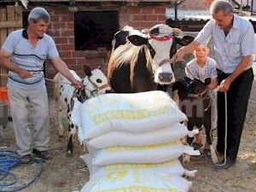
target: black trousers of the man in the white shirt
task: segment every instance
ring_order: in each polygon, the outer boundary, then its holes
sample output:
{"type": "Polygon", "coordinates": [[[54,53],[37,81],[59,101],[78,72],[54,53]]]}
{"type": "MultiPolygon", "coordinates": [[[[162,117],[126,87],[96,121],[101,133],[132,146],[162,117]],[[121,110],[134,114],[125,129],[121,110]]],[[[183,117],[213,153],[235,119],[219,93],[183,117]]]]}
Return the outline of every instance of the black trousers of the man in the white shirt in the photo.
{"type": "MultiPolygon", "coordinates": [[[[230,74],[218,70],[218,84],[230,74]]],[[[241,132],[247,113],[247,103],[253,84],[253,69],[241,73],[227,91],[227,157],[236,160],[241,140],[241,132]]],[[[225,147],[225,98],[218,92],[218,153],[224,154],[225,147]]]]}

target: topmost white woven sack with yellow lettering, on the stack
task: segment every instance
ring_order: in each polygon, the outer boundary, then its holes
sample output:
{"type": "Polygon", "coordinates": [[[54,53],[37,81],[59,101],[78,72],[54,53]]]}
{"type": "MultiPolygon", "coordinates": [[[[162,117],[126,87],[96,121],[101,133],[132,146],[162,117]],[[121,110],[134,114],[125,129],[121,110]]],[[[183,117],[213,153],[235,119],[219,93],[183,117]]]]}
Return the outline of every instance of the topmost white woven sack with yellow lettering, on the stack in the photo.
{"type": "Polygon", "coordinates": [[[79,140],[108,131],[142,132],[187,120],[164,91],[133,94],[104,94],[84,103],[75,102],[71,117],[79,127],[79,140]]]}

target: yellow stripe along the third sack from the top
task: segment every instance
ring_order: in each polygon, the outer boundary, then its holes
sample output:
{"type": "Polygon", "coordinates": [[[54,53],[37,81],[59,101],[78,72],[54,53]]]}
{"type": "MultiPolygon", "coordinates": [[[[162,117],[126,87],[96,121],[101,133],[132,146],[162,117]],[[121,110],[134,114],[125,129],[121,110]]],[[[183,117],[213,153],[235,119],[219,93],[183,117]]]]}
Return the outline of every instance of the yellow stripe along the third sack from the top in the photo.
{"type": "Polygon", "coordinates": [[[147,146],[138,146],[138,147],[109,147],[109,148],[104,148],[103,151],[107,153],[112,153],[112,152],[124,152],[124,151],[138,151],[138,150],[154,150],[158,148],[167,148],[167,147],[173,147],[177,146],[178,143],[177,141],[173,141],[170,143],[163,143],[163,144],[154,144],[154,145],[147,145],[147,146]]]}

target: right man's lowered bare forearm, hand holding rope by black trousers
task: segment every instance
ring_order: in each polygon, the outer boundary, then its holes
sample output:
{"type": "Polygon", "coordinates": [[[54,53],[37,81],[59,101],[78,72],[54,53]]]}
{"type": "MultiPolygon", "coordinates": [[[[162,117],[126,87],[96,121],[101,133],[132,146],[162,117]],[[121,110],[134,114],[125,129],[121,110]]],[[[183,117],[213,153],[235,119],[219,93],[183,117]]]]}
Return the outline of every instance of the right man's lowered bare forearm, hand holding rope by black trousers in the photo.
{"type": "Polygon", "coordinates": [[[250,63],[251,55],[244,56],[241,59],[241,62],[236,67],[236,70],[230,74],[230,76],[224,79],[221,84],[218,86],[218,91],[226,92],[230,89],[230,84],[247,68],[248,64],[250,63]]]}

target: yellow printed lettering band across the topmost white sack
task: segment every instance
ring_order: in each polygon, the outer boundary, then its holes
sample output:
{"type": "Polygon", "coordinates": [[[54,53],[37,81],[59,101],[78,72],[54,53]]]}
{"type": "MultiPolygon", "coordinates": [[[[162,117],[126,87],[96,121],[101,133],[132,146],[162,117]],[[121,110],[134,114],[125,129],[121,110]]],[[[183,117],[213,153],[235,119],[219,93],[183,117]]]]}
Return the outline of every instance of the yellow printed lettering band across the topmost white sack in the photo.
{"type": "Polygon", "coordinates": [[[94,124],[98,125],[110,119],[144,119],[169,112],[168,106],[142,110],[113,110],[106,113],[97,113],[92,117],[94,124]]]}

